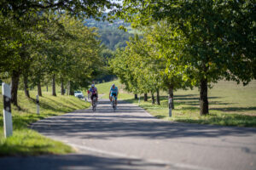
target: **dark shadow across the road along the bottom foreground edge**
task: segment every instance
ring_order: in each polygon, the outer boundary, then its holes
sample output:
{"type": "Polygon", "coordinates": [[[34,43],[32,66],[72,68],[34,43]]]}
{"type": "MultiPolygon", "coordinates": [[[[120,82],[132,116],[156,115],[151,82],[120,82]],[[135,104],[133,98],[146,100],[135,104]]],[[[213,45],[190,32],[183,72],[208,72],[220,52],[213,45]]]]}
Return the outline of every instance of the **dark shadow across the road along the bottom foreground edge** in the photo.
{"type": "Polygon", "coordinates": [[[61,169],[166,169],[175,165],[143,161],[142,159],[116,158],[109,156],[67,155],[37,157],[4,157],[0,160],[2,170],[61,170],[61,169]],[[147,168],[148,167],[148,168],[147,168]]]}

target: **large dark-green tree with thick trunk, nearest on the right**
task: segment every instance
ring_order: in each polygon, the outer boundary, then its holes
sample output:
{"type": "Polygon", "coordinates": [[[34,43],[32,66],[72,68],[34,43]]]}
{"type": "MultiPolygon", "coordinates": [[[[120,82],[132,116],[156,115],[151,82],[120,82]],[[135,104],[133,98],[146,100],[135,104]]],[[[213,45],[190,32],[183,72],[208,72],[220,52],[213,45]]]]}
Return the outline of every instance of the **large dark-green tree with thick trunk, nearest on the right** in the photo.
{"type": "Polygon", "coordinates": [[[170,24],[172,32],[178,34],[175,42],[185,42],[178,60],[189,68],[187,77],[199,86],[201,115],[206,115],[210,82],[226,78],[247,84],[255,78],[253,8],[253,0],[125,0],[118,15],[132,26],[149,26],[155,20],[170,24]]]}

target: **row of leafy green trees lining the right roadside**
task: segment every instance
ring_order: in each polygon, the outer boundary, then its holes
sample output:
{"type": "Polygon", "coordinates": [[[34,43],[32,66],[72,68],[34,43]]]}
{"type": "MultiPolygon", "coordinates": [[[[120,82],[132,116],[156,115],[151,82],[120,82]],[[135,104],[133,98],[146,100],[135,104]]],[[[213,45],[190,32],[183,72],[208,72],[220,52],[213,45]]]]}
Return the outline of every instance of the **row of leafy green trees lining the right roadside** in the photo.
{"type": "Polygon", "coordinates": [[[131,38],[110,66],[135,94],[159,96],[164,89],[173,99],[178,88],[199,87],[201,115],[207,115],[212,82],[247,85],[256,77],[255,8],[253,0],[124,1],[119,16],[143,38],[131,38]]]}

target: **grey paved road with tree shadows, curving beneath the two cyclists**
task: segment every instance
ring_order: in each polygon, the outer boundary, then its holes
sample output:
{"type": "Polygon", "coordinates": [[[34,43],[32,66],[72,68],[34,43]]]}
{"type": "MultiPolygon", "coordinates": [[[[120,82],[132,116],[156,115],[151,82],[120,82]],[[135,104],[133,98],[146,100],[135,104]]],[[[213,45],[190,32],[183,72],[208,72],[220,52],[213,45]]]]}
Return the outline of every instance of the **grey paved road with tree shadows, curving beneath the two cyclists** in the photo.
{"type": "Polygon", "coordinates": [[[256,128],[166,122],[126,103],[113,112],[101,100],[94,113],[53,116],[32,128],[78,153],[1,158],[1,169],[256,169],[256,128]]]}

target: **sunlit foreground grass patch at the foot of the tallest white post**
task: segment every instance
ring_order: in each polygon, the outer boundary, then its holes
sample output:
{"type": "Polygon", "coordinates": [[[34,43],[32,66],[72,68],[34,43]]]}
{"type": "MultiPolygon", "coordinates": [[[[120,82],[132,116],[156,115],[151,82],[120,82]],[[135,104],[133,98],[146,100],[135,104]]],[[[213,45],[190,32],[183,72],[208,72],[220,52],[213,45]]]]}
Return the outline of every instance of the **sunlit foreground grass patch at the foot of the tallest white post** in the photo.
{"type": "Polygon", "coordinates": [[[37,156],[73,152],[70,146],[45,138],[26,128],[16,128],[12,137],[0,138],[0,144],[0,156],[37,156]]]}

